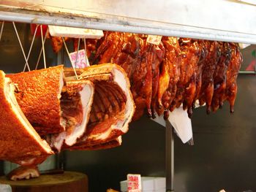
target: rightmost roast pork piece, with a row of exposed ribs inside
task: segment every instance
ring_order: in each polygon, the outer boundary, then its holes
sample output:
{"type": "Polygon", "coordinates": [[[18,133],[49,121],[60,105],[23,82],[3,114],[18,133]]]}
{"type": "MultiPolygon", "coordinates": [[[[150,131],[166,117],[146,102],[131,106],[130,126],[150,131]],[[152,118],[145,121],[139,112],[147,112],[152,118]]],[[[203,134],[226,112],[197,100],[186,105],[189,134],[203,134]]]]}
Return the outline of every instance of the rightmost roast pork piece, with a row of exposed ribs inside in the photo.
{"type": "MultiPolygon", "coordinates": [[[[80,79],[94,82],[95,94],[86,133],[75,145],[67,147],[71,150],[100,145],[125,134],[135,112],[124,69],[116,64],[99,64],[80,70],[80,79]]],[[[70,75],[67,71],[65,74],[70,75]]]]}

